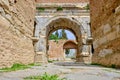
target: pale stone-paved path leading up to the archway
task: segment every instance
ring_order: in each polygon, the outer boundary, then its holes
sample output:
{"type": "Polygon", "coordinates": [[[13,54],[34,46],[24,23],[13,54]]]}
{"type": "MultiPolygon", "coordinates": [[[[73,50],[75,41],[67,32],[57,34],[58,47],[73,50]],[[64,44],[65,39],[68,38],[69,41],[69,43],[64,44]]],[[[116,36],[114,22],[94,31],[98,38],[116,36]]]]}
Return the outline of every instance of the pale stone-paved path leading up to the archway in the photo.
{"type": "Polygon", "coordinates": [[[23,80],[24,77],[41,75],[45,72],[58,74],[68,80],[120,80],[120,70],[74,62],[57,62],[26,70],[0,72],[0,80],[23,80]]]}

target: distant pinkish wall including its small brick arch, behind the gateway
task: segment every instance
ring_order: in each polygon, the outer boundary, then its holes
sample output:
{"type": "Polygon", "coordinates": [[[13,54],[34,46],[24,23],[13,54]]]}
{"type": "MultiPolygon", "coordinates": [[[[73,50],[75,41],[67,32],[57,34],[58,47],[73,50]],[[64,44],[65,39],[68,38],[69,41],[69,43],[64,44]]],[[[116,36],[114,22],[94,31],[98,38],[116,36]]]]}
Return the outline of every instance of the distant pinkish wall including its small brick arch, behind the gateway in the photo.
{"type": "MultiPolygon", "coordinates": [[[[77,49],[77,42],[75,40],[49,40],[48,59],[65,61],[65,49],[77,49]]],[[[76,55],[76,52],[75,52],[76,55]]]]}

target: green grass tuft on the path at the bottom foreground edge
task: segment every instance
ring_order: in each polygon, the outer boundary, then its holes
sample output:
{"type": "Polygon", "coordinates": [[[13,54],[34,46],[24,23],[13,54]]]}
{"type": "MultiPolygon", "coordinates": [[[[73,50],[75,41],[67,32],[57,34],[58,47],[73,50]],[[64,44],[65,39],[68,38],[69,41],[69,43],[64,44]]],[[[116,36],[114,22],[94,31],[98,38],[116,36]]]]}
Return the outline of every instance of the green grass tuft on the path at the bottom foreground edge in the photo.
{"type": "Polygon", "coordinates": [[[29,76],[24,78],[24,80],[66,80],[65,78],[60,79],[58,75],[49,75],[47,73],[44,73],[40,76],[29,76]]]}

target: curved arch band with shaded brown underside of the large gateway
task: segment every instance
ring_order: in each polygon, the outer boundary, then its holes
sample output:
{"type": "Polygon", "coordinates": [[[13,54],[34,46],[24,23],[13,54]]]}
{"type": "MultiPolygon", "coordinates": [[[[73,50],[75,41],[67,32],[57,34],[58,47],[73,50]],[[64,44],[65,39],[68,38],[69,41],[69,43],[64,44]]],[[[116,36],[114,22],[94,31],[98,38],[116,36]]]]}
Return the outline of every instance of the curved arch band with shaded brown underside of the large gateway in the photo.
{"type": "Polygon", "coordinates": [[[77,46],[77,60],[80,58],[82,52],[82,32],[81,24],[75,18],[66,17],[66,16],[57,16],[53,19],[50,19],[46,25],[46,47],[48,47],[48,38],[49,35],[57,29],[67,29],[74,33],[76,36],[77,46]]]}

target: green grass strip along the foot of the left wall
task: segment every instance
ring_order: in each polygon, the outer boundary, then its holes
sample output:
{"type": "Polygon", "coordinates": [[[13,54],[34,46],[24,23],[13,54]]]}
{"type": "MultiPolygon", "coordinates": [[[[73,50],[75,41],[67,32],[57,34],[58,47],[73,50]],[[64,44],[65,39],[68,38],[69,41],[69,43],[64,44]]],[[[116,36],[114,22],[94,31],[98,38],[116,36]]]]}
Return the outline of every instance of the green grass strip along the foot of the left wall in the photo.
{"type": "Polygon", "coordinates": [[[27,69],[27,68],[31,68],[32,66],[37,66],[37,65],[35,65],[34,63],[28,64],[28,65],[15,63],[15,64],[12,65],[12,67],[10,67],[10,68],[7,68],[7,67],[2,68],[2,69],[0,69],[0,71],[2,71],[2,72],[10,72],[10,71],[16,71],[16,70],[24,70],[24,69],[27,69]]]}

